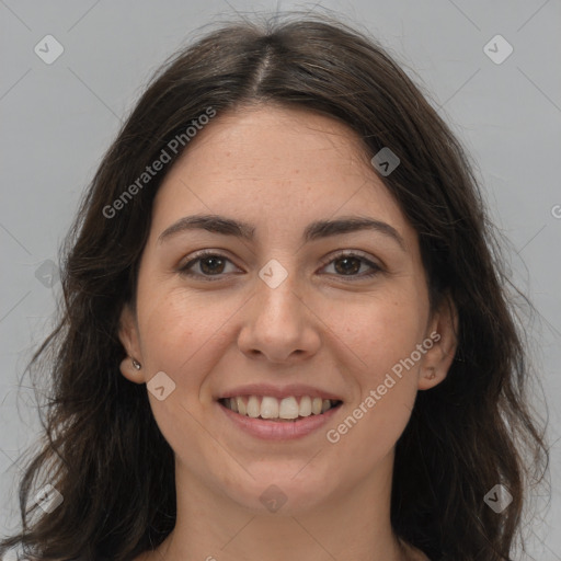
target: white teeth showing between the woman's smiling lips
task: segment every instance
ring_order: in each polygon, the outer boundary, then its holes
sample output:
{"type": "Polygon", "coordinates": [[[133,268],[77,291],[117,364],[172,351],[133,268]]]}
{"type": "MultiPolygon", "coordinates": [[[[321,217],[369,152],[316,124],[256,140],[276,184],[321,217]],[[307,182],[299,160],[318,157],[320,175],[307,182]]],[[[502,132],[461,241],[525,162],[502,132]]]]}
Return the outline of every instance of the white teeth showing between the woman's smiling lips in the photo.
{"type": "Polygon", "coordinates": [[[327,413],[343,402],[309,396],[290,396],[283,399],[271,396],[237,396],[236,398],[220,398],[218,403],[242,416],[273,422],[295,422],[311,415],[327,413]]]}

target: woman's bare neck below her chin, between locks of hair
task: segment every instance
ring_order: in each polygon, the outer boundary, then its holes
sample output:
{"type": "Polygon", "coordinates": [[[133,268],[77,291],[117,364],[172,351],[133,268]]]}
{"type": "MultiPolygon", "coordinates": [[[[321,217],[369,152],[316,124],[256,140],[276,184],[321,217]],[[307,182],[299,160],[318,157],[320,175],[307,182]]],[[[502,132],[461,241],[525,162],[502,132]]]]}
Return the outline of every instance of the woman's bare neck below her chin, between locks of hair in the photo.
{"type": "Polygon", "coordinates": [[[392,458],[311,507],[275,513],[241,506],[175,466],[178,516],[174,530],[137,561],[416,561],[426,559],[400,545],[390,524],[392,458]]]}

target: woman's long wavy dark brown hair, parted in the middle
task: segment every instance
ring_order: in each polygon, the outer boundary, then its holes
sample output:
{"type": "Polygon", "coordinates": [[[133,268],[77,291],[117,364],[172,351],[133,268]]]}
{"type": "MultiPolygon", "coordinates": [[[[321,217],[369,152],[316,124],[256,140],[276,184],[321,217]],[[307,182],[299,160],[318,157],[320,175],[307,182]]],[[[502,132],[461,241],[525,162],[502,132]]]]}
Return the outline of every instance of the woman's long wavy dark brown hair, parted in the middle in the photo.
{"type": "Polygon", "coordinates": [[[381,179],[419,234],[432,306],[448,294],[459,333],[448,377],[419,393],[397,443],[392,526],[432,561],[512,560],[548,449],[497,234],[468,157],[420,89],[374,38],[318,15],[229,23],[176,53],[103,158],[64,248],[61,317],[30,364],[50,358],[51,396],[42,450],[21,481],[22,531],[2,545],[129,561],[173,529],[173,453],[146,388],[119,371],[117,329],[135,301],[153,197],[188,142],[123,194],[209,107],[267,102],[340,119],[368,157],[390,147],[400,158],[381,179]],[[27,505],[47,469],[64,496],[51,513],[27,505]],[[497,483],[513,497],[501,514],[483,500],[497,483]]]}

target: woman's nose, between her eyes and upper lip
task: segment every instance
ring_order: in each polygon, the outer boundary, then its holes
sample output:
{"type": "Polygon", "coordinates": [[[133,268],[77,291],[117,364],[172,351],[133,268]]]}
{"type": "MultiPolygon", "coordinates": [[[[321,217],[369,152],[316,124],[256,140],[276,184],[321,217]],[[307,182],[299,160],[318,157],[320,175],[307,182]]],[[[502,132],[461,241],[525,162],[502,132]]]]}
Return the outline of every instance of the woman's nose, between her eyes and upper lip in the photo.
{"type": "Polygon", "coordinates": [[[238,346],[250,358],[291,364],[318,352],[321,321],[296,294],[291,277],[276,288],[259,279],[256,293],[245,304],[238,346]]]}

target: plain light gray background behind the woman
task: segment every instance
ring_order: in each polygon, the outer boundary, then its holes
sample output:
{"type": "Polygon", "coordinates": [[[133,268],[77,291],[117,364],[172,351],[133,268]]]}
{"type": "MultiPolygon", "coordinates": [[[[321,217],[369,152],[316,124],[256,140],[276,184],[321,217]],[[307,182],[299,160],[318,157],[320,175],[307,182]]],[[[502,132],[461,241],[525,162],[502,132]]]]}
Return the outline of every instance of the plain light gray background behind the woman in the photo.
{"type": "MultiPolygon", "coordinates": [[[[39,428],[30,390],[16,399],[16,385],[60,293],[47,260],[56,263],[121,119],[151,72],[201,25],[236,11],[313,5],[0,0],[0,533],[19,519],[18,459],[39,428]],[[51,65],[34,51],[47,34],[65,49],[51,65]]],[[[561,526],[561,2],[320,2],[325,9],[364,25],[431,92],[477,161],[493,219],[512,241],[513,275],[540,312],[530,334],[539,345],[552,443],[552,499],[548,506],[548,497],[538,497],[542,522],[530,527],[530,553],[561,560],[554,531],[561,526]],[[483,50],[496,34],[514,48],[499,65],[483,50]]]]}

